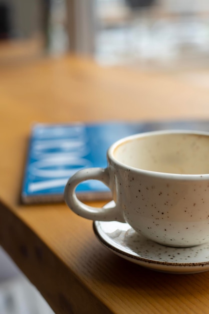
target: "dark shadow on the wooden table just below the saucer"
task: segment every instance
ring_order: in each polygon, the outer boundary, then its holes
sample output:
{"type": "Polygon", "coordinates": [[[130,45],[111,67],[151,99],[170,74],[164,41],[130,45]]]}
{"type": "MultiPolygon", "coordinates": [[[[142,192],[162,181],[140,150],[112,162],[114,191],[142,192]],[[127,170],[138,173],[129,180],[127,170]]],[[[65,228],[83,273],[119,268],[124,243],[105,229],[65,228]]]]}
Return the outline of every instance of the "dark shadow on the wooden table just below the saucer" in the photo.
{"type": "MultiPolygon", "coordinates": [[[[120,287],[128,294],[134,293],[138,297],[147,294],[157,300],[163,299],[166,295],[169,298],[172,293],[175,298],[192,300],[196,293],[200,293],[199,282],[202,286],[207,286],[209,279],[208,271],[196,274],[170,274],[144,268],[110,252],[93,238],[91,238],[91,246],[86,246],[85,249],[88,253],[82,250],[78,256],[78,262],[85,261],[82,266],[83,275],[87,277],[89,283],[92,280],[97,281],[101,286],[109,285],[111,289],[120,287]],[[88,267],[88,273],[86,264],[91,265],[91,271],[89,272],[88,267]],[[145,286],[146,289],[144,289],[145,286]]],[[[204,297],[204,293],[206,295],[207,292],[201,290],[201,293],[204,297]]]]}

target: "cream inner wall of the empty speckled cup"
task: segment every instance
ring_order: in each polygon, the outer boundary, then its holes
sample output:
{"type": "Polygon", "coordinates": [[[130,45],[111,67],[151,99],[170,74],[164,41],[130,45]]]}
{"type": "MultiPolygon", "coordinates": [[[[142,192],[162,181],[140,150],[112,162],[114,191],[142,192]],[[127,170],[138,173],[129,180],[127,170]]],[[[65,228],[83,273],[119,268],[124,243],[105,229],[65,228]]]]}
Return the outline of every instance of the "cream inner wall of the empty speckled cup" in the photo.
{"type": "Polygon", "coordinates": [[[141,170],[209,174],[209,134],[147,133],[122,142],[113,154],[118,162],[141,170]]]}

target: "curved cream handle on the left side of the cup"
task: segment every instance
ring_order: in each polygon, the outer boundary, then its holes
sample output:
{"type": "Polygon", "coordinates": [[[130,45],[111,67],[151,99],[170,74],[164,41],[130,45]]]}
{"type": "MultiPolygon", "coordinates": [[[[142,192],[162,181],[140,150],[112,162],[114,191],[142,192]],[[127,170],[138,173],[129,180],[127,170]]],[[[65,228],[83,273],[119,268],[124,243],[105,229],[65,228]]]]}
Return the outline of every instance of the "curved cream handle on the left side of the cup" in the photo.
{"type": "Polygon", "coordinates": [[[78,200],[75,189],[83,181],[98,180],[110,188],[109,168],[88,168],[78,171],[66,184],[64,199],[68,207],[77,215],[91,220],[125,222],[117,204],[108,208],[88,206],[78,200]]]}

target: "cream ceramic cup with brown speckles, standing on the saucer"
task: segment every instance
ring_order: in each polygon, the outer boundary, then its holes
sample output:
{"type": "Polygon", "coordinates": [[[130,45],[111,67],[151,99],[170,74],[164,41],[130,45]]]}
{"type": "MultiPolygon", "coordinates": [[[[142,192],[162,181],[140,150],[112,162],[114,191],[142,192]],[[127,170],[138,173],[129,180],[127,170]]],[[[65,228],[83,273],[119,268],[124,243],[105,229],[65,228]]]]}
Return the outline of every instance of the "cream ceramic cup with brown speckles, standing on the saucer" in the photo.
{"type": "Polygon", "coordinates": [[[107,152],[108,167],[81,170],[69,179],[65,201],[78,215],[128,223],[160,244],[209,241],[209,133],[169,130],[132,135],[107,152]],[[112,191],[114,206],[94,208],[75,189],[95,179],[112,191]]]}

